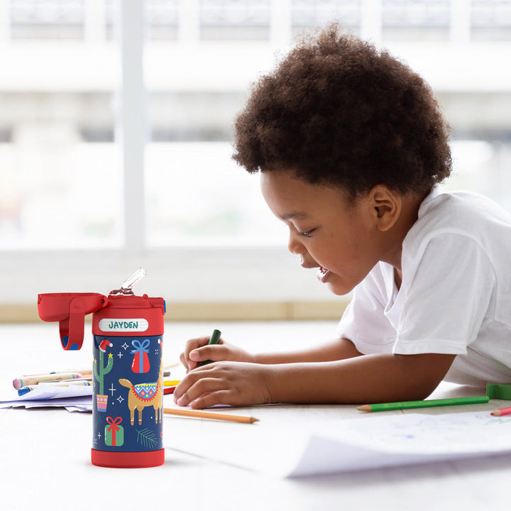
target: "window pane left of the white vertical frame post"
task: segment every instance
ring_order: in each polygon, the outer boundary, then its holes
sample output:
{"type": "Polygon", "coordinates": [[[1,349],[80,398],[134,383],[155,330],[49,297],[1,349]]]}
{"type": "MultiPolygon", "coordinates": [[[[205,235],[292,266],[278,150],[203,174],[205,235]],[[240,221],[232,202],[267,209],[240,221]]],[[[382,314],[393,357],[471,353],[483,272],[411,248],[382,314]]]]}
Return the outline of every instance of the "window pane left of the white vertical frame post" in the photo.
{"type": "Polygon", "coordinates": [[[1,249],[120,246],[114,6],[12,0],[1,41],[1,249]]]}

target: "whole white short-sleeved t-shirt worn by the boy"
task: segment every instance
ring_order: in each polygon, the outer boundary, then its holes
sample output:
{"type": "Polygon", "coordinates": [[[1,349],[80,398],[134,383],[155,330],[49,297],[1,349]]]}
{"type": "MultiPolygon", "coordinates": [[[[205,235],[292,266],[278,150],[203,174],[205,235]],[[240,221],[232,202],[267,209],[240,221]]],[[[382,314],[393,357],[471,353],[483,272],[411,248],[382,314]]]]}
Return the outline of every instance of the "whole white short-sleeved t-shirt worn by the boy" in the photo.
{"type": "Polygon", "coordinates": [[[402,244],[402,285],[378,263],[337,333],[368,353],[451,353],[445,380],[511,382],[511,215],[471,192],[434,189],[402,244]]]}

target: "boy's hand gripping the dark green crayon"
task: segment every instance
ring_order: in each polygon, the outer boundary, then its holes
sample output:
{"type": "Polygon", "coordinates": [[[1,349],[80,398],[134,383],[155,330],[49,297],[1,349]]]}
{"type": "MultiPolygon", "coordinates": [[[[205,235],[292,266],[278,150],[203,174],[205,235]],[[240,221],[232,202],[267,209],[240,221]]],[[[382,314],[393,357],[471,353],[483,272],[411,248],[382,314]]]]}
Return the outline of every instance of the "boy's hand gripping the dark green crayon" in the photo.
{"type": "Polygon", "coordinates": [[[253,356],[247,351],[227,344],[223,339],[218,344],[208,344],[209,336],[190,339],[185,351],[180,355],[180,361],[185,366],[187,372],[199,367],[202,361],[237,361],[253,362],[253,356]]]}

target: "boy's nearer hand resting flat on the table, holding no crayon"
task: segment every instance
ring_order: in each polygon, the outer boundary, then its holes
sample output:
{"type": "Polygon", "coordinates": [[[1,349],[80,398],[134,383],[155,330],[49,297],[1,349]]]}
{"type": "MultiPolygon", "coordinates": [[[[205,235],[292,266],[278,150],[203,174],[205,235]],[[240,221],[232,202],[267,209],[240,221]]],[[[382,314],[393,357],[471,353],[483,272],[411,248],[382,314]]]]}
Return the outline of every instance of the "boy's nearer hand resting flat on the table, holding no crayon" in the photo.
{"type": "Polygon", "coordinates": [[[263,405],[271,402],[266,385],[270,366],[222,361],[189,371],[174,391],[177,405],[263,405]]]}

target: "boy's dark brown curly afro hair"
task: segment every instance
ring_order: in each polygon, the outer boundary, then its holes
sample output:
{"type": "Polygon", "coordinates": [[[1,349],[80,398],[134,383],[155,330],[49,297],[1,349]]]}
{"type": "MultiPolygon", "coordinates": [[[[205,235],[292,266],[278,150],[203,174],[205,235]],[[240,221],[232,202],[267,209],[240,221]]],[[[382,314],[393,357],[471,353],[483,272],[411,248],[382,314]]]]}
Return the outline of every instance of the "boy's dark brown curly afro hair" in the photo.
{"type": "Polygon", "coordinates": [[[351,199],[378,184],[424,194],[451,172],[449,126],[410,67],[334,24],[253,84],[233,159],[248,172],[295,170],[351,199]]]}

